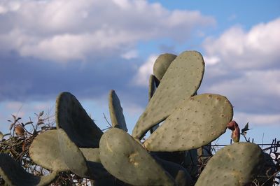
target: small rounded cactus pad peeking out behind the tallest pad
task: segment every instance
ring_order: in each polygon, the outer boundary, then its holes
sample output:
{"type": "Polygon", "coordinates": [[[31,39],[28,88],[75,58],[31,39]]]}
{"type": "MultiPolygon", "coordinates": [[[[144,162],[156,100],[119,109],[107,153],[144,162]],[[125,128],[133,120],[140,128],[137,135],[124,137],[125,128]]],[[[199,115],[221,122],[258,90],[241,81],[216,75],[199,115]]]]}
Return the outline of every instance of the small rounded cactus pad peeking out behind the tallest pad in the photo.
{"type": "Polygon", "coordinates": [[[169,65],[174,61],[176,55],[172,54],[162,54],[157,59],[155,59],[155,64],[153,64],[153,74],[158,80],[161,80],[165,75],[169,65]]]}

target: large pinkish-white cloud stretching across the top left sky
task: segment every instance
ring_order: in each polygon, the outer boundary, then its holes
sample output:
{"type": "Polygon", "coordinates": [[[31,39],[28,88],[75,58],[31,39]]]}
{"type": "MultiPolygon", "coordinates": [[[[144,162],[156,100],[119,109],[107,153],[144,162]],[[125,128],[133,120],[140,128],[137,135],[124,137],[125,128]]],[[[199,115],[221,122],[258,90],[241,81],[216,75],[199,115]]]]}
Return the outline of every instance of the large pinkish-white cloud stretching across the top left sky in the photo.
{"type": "Polygon", "coordinates": [[[5,0],[0,13],[5,25],[0,50],[54,61],[121,56],[135,50],[137,41],[166,36],[185,41],[195,28],[215,24],[198,11],[168,10],[144,0],[5,0]]]}

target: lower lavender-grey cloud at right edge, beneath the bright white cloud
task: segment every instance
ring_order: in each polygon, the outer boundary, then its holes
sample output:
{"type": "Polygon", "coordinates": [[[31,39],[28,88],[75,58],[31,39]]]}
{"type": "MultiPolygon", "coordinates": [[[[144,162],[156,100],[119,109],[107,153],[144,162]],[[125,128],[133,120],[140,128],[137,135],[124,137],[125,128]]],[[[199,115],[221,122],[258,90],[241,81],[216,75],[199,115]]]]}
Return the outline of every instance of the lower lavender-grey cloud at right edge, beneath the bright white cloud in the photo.
{"type": "Polygon", "coordinates": [[[207,92],[223,94],[237,110],[278,113],[280,70],[248,71],[242,76],[225,79],[207,87],[207,92]]]}

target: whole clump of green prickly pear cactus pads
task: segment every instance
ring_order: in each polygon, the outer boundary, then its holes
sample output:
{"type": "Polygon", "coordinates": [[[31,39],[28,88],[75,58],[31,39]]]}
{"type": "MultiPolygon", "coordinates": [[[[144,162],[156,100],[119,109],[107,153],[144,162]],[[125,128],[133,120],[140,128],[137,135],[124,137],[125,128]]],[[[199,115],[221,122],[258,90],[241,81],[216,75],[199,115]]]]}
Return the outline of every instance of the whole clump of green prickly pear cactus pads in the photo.
{"type": "Polygon", "coordinates": [[[203,75],[200,52],[160,55],[149,82],[148,106],[132,135],[114,90],[109,93],[113,127],[104,133],[75,96],[62,92],[56,101],[56,129],[36,136],[29,148],[31,159],[50,174],[34,176],[0,154],[0,175],[8,185],[48,185],[61,171],[94,180],[93,185],[251,183],[265,159],[258,145],[248,142],[219,150],[199,178],[193,176],[197,170],[190,165],[197,163],[197,149],[225,133],[233,116],[225,96],[197,94],[203,75]]]}

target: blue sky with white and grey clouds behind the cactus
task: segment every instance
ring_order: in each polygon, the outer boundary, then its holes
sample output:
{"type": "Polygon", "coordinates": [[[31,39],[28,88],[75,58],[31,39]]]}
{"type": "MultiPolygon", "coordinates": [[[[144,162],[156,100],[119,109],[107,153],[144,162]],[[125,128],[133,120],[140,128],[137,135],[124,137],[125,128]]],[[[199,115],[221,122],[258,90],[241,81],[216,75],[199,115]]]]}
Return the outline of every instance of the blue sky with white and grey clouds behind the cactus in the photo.
{"type": "MultiPolygon", "coordinates": [[[[198,94],[227,96],[255,143],[280,139],[280,1],[0,0],[0,131],[71,92],[101,129],[115,90],[131,134],[162,53],[197,50],[198,94]]],[[[219,143],[228,143],[230,133],[219,143]]]]}

